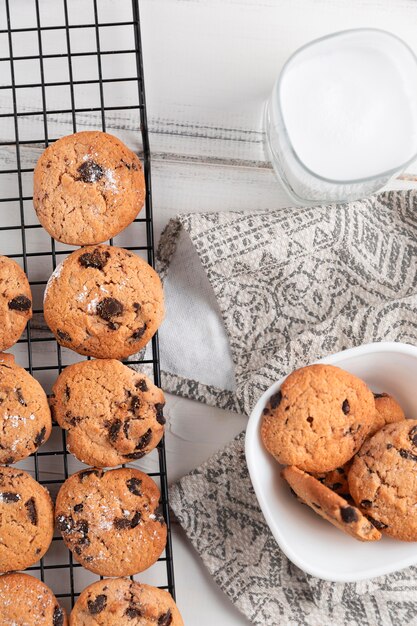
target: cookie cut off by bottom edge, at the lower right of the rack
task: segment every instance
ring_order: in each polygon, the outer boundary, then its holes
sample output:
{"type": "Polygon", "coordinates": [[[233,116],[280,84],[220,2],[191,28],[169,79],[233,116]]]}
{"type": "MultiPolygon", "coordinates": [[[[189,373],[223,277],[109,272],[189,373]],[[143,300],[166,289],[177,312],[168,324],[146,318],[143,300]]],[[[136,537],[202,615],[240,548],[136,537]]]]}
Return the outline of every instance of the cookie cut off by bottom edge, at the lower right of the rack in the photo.
{"type": "Polygon", "coordinates": [[[171,595],[128,578],[98,580],[79,596],[70,626],[183,626],[171,595]]]}

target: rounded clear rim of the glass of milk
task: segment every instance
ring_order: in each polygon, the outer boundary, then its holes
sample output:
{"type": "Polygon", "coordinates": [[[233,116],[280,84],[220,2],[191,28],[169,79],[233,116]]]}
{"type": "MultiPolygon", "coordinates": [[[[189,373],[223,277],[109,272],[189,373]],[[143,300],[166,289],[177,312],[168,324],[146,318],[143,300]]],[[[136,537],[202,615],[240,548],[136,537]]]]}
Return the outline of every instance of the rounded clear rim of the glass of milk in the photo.
{"type": "Polygon", "coordinates": [[[417,159],[417,150],[413,153],[413,155],[408,158],[406,161],[404,161],[403,163],[398,164],[397,166],[390,168],[389,170],[384,170],[383,172],[378,172],[377,174],[374,174],[373,176],[365,176],[362,178],[351,178],[351,179],[337,179],[337,178],[328,178],[326,176],[322,176],[321,174],[317,174],[314,170],[312,170],[311,168],[309,168],[303,161],[302,159],[298,156],[292,141],[290,140],[290,135],[288,133],[285,121],[284,121],[284,115],[282,113],[282,98],[281,98],[281,86],[282,86],[282,80],[283,80],[283,76],[285,74],[285,72],[288,69],[289,64],[294,60],[294,58],[302,51],[306,50],[307,48],[309,48],[310,46],[313,46],[317,43],[320,43],[322,41],[326,41],[328,39],[333,39],[335,37],[339,37],[341,35],[351,35],[354,33],[361,33],[361,32],[371,32],[371,33],[378,33],[380,35],[387,35],[388,37],[391,37],[392,39],[395,39],[398,43],[400,43],[410,54],[410,56],[412,57],[412,60],[415,63],[415,66],[417,68],[417,55],[414,53],[414,51],[411,49],[411,47],[403,40],[401,39],[401,37],[398,37],[398,35],[395,35],[394,33],[391,33],[388,30],[384,30],[383,28],[370,28],[370,27],[361,27],[361,28],[348,28],[345,30],[340,30],[340,31],[336,31],[334,33],[329,33],[328,35],[323,35],[322,37],[318,37],[317,39],[313,39],[312,41],[309,41],[305,44],[303,44],[302,46],[300,46],[299,48],[297,48],[297,50],[295,50],[289,57],[288,59],[285,61],[284,65],[282,66],[282,69],[280,71],[278,80],[274,86],[273,89],[273,93],[275,91],[277,91],[278,93],[278,105],[279,105],[279,114],[280,114],[280,118],[282,121],[282,126],[283,126],[283,130],[285,132],[285,135],[287,137],[287,141],[288,141],[288,145],[289,148],[295,158],[295,160],[297,161],[297,163],[300,165],[301,168],[303,168],[308,174],[310,174],[311,176],[313,176],[314,178],[316,178],[317,180],[321,180],[325,183],[330,183],[330,184],[337,184],[337,185],[354,185],[354,184],[360,184],[360,183],[365,183],[365,182],[370,182],[372,180],[377,180],[378,178],[391,178],[395,173],[404,170],[408,165],[410,165],[410,163],[412,163],[415,159],[417,159]]]}

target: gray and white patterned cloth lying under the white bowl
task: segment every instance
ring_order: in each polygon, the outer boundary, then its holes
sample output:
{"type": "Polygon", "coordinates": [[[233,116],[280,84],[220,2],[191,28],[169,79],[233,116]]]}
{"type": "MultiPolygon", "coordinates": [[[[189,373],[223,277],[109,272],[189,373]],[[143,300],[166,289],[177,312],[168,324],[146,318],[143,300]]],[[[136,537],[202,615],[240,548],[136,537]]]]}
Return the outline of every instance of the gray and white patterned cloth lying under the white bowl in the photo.
{"type": "MultiPolygon", "coordinates": [[[[183,215],[167,226],[159,270],[180,237],[217,300],[233,389],[166,372],[180,395],[250,413],[274,381],[371,341],[417,344],[417,192],[251,214],[183,215]]],[[[417,568],[329,583],[294,566],[258,507],[244,434],[171,488],[171,506],[217,584],[259,626],[417,624],[417,568]]],[[[335,555],[337,558],[337,555],[335,555]]]]}

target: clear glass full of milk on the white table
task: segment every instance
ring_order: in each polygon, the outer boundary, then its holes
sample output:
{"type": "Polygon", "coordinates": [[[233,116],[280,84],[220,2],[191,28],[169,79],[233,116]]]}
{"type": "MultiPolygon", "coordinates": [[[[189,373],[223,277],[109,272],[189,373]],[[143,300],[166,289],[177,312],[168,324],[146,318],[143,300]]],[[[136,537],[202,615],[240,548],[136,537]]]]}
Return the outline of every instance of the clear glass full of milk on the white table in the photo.
{"type": "Polygon", "coordinates": [[[296,202],[369,195],[417,157],[417,59],[382,30],[313,41],[284,65],[265,126],[275,172],[296,202]]]}

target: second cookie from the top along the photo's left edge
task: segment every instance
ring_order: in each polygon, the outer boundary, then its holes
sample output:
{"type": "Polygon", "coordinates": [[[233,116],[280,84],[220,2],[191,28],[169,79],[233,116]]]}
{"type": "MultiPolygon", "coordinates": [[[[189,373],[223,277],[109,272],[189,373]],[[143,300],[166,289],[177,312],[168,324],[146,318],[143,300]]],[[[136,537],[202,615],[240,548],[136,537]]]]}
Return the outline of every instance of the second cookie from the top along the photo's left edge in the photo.
{"type": "Polygon", "coordinates": [[[37,380],[0,353],[0,464],[25,459],[51,434],[51,412],[37,380]]]}

